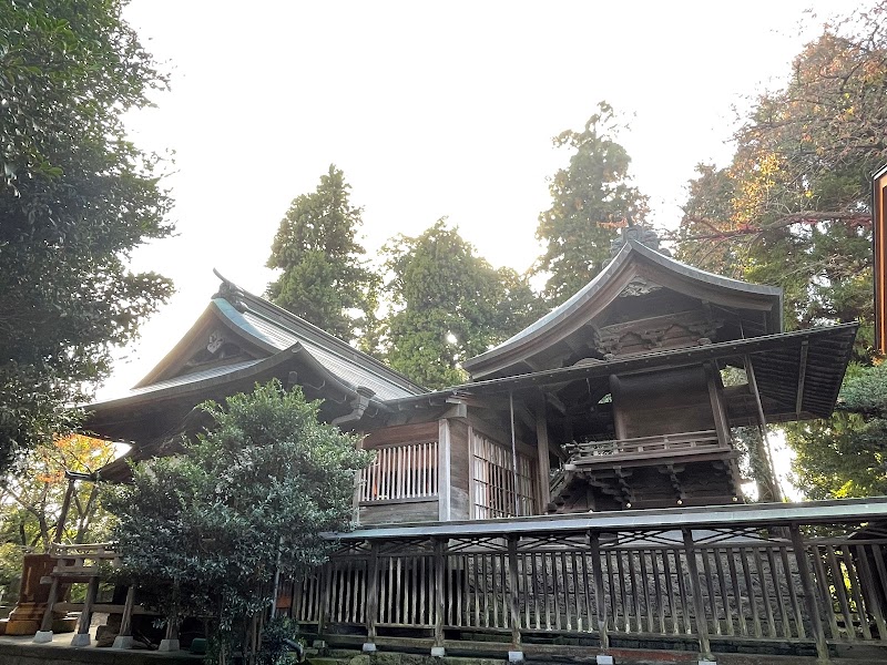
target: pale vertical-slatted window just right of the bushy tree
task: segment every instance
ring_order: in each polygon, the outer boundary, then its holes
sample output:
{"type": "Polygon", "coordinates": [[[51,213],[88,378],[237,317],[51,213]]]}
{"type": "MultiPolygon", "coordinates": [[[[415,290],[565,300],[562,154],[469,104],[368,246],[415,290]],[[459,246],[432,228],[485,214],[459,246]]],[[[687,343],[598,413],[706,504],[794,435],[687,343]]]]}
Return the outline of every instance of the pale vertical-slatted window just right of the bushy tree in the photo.
{"type": "Polygon", "coordinates": [[[376,459],[360,472],[358,501],[437,495],[437,441],[388,446],[374,452],[376,459]]]}

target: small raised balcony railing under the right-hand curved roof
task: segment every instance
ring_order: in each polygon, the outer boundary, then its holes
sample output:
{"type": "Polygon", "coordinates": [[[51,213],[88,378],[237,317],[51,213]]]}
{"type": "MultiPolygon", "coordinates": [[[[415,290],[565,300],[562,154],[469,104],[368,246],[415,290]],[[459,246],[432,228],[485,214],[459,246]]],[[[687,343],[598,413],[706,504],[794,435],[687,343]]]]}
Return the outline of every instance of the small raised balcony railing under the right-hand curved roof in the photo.
{"type": "Polygon", "coordinates": [[[714,430],[682,432],[640,437],[636,439],[613,439],[610,441],[583,441],[563,446],[570,456],[571,464],[597,462],[609,463],[612,456],[661,457],[692,452],[708,452],[723,448],[714,430]]]}

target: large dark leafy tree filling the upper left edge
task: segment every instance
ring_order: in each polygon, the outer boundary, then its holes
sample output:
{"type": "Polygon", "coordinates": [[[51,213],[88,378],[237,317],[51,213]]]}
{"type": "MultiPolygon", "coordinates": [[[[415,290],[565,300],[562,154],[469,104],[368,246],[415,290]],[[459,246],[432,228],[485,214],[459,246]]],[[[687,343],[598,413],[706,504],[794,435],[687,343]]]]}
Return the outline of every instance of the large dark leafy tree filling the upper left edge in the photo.
{"type": "Polygon", "coordinates": [[[157,160],[122,124],[165,81],[121,7],[0,6],[0,470],[70,429],[65,402],[172,293],[125,265],[172,227],[157,160]]]}

